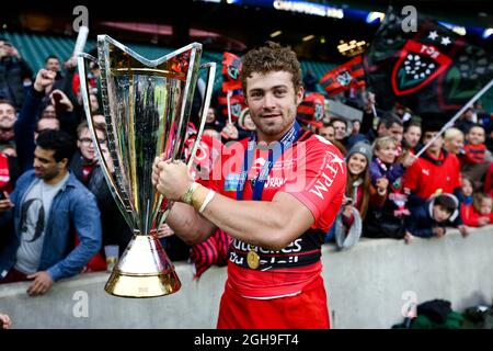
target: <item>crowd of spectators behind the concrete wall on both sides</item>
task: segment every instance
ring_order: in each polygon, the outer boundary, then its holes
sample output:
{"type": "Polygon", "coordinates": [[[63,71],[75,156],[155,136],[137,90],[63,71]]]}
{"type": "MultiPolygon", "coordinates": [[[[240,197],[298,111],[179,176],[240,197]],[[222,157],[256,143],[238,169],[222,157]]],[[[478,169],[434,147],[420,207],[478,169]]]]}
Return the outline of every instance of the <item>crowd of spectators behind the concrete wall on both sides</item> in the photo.
{"type": "MultiPolygon", "coordinates": [[[[49,56],[33,73],[22,53],[3,38],[0,54],[0,284],[31,280],[28,293],[36,295],[59,279],[105,270],[103,247],[118,245],[122,253],[131,230],[94,150],[74,58],[62,64],[49,56]]],[[[98,78],[92,66],[91,110],[111,168],[98,78]]],[[[317,81],[307,72],[307,94],[317,91],[317,81]]],[[[493,114],[474,105],[416,158],[442,127],[435,118],[414,115],[398,103],[392,111],[378,111],[367,91],[359,100],[360,121],[328,111],[322,122],[303,123],[333,143],[347,165],[345,200],[326,241],[337,237],[337,246],[348,248],[363,236],[410,244],[414,237],[443,237],[449,227],[467,237],[468,227],[492,223],[493,114]]],[[[195,114],[190,140],[197,133],[195,114]]],[[[211,169],[220,152],[215,144],[254,131],[248,110],[229,121],[213,100],[197,177],[211,169]]],[[[230,240],[221,230],[195,247],[181,242],[165,225],[158,235],[171,260],[195,263],[197,278],[228,260],[230,240]]]]}

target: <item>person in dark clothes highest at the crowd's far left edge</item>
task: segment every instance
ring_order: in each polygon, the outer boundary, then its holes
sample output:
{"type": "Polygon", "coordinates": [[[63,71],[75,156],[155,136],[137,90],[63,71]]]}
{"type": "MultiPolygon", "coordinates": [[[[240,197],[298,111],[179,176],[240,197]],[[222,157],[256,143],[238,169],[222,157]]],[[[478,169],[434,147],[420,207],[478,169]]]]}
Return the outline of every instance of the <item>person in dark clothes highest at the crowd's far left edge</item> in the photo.
{"type": "Polygon", "coordinates": [[[0,99],[12,102],[20,110],[24,102],[24,83],[31,84],[33,71],[19,50],[0,38],[0,99]]]}

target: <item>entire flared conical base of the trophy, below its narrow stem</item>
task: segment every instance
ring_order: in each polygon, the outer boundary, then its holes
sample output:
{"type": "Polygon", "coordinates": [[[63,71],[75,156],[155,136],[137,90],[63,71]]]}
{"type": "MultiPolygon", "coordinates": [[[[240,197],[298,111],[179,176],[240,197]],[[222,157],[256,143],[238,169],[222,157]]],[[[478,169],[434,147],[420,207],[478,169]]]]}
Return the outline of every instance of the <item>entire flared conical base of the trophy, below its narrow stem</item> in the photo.
{"type": "Polygon", "coordinates": [[[170,295],[182,286],[174,265],[154,235],[134,235],[104,286],[121,297],[170,295]]]}

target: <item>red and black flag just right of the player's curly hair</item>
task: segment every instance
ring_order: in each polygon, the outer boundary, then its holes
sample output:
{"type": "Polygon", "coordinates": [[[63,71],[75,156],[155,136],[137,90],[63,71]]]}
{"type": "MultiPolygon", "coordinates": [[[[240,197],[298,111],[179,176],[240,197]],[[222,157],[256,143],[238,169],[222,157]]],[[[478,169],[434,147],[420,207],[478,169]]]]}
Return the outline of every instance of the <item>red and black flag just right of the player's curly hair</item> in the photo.
{"type": "Polygon", "coordinates": [[[328,71],[320,79],[320,83],[329,95],[337,95],[351,88],[365,86],[365,69],[363,67],[363,55],[358,55],[344,65],[328,71]]]}

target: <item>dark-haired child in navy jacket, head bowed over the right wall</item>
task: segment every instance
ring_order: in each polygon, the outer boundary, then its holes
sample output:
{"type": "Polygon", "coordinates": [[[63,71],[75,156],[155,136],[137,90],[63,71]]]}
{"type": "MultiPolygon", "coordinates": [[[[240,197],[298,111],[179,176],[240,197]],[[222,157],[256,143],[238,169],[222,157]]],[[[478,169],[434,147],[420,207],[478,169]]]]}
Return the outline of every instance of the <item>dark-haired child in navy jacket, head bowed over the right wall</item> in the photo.
{"type": "Polygon", "coordinates": [[[411,244],[412,237],[442,238],[447,226],[455,226],[459,216],[459,201],[452,194],[443,193],[414,207],[408,217],[405,241],[411,244]]]}

